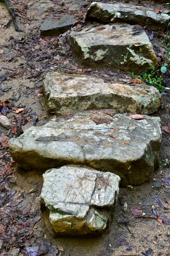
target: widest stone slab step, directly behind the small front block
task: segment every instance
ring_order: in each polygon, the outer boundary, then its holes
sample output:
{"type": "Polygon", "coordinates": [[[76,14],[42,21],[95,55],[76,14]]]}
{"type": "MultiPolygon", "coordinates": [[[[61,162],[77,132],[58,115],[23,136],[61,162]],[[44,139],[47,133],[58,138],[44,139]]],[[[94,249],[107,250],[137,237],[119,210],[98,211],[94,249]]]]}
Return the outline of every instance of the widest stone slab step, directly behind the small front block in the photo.
{"type": "Polygon", "coordinates": [[[24,169],[85,164],[114,172],[122,186],[151,180],[159,166],[159,117],[136,120],[114,111],[79,111],[27,129],[9,140],[10,154],[24,169]]]}

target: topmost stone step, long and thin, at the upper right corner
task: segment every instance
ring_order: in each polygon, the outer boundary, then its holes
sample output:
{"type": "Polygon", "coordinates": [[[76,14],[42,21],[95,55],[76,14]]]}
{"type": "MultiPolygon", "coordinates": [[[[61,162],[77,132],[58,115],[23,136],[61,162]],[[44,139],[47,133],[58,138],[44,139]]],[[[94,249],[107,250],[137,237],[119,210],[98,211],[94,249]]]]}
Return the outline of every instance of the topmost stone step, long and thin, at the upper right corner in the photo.
{"type": "Polygon", "coordinates": [[[104,23],[127,22],[149,26],[160,31],[167,29],[170,16],[164,12],[156,13],[152,8],[135,6],[123,3],[97,3],[93,2],[88,9],[87,18],[100,20],[104,23]]]}

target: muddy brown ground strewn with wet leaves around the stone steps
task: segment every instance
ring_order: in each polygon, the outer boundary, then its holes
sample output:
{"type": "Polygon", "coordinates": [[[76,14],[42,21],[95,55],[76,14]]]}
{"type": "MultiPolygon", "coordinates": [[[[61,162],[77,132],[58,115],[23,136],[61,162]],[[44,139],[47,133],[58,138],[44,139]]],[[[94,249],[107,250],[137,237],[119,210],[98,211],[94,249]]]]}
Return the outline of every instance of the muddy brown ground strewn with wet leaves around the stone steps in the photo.
{"type": "MultiPolygon", "coordinates": [[[[124,74],[113,75],[79,67],[67,43],[69,31],[59,38],[40,36],[40,24],[51,13],[74,14],[79,19],[74,30],[81,30],[84,26],[99,26],[99,23],[85,23],[85,13],[91,1],[51,1],[54,6],[41,17],[38,14],[26,14],[34,2],[37,0],[11,0],[11,6],[19,15],[17,23],[22,32],[15,30],[13,22],[8,24],[11,17],[6,6],[0,2],[0,75],[7,71],[6,78],[0,83],[1,115],[6,115],[13,126],[12,129],[0,127],[0,240],[3,242],[0,256],[8,255],[14,248],[19,248],[21,253],[23,248],[39,246],[41,242],[58,246],[63,256],[170,255],[170,204],[167,201],[170,199],[170,134],[164,131],[160,169],[154,172],[150,183],[120,188],[115,218],[102,236],[56,238],[46,227],[38,201],[42,173],[20,169],[8,151],[8,140],[23,133],[24,125],[42,125],[53,117],[48,115],[43,98],[42,80],[45,74],[62,70],[103,79],[109,77],[113,81],[130,78],[124,74]],[[22,108],[23,111],[20,111],[22,108]],[[19,113],[16,113],[18,110],[19,113]],[[145,215],[142,218],[135,217],[132,209],[143,211],[145,215]],[[154,210],[160,218],[155,217],[154,210]]],[[[112,2],[164,8],[163,3],[152,1],[112,2]]],[[[152,33],[150,30],[147,32],[148,35],[152,33]]],[[[154,35],[152,43],[157,51],[160,41],[154,35]]],[[[165,86],[169,87],[169,73],[164,81],[165,86]]],[[[161,127],[170,126],[168,91],[162,96],[161,103],[160,111],[154,115],[161,118],[161,127]]]]}

